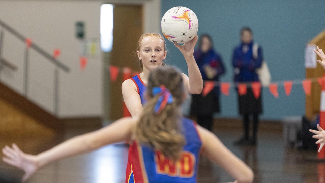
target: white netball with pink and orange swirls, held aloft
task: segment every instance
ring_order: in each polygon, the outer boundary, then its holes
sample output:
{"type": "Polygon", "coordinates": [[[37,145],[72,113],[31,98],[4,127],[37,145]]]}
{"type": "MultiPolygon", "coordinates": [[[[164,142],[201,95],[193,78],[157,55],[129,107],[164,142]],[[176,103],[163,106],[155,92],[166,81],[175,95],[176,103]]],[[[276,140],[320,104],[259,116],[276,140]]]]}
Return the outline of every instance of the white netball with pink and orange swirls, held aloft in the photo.
{"type": "Polygon", "coordinates": [[[162,34],[172,43],[187,43],[198,33],[199,21],[187,7],[170,8],[162,16],[162,34]]]}

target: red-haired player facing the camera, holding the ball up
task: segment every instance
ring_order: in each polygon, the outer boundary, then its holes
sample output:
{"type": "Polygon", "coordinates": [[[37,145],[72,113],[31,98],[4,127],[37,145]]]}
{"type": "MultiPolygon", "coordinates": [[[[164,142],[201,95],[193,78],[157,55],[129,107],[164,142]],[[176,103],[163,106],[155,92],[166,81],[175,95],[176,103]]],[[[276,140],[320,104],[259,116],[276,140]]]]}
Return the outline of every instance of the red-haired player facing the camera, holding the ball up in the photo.
{"type": "MultiPolygon", "coordinates": [[[[186,91],[191,94],[199,94],[203,88],[203,81],[200,70],[194,59],[194,46],[198,40],[195,36],[192,40],[180,46],[174,43],[175,47],[183,54],[188,66],[188,76],[181,73],[186,91]]],[[[166,42],[158,33],[145,33],[140,36],[136,53],[142,72],[122,84],[122,93],[126,107],[132,117],[139,114],[146,104],[146,86],[149,73],[156,68],[166,66],[163,60],[166,58],[166,42]]]]}

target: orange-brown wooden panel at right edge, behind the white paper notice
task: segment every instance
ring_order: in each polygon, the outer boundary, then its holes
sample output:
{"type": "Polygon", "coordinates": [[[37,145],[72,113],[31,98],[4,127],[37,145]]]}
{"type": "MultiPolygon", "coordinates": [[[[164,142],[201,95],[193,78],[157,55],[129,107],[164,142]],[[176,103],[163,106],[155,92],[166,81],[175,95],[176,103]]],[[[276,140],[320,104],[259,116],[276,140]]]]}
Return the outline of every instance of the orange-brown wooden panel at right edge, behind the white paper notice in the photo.
{"type": "MultiPolygon", "coordinates": [[[[325,48],[325,31],[321,32],[317,35],[313,40],[311,40],[308,44],[315,44],[319,46],[319,48],[325,48]]],[[[317,59],[320,59],[317,56],[317,59]]],[[[306,69],[306,78],[316,78],[322,77],[325,74],[324,68],[317,64],[315,69],[306,69]]],[[[306,95],[306,109],[305,113],[308,119],[312,119],[315,114],[319,114],[319,106],[320,106],[320,91],[321,87],[317,82],[312,83],[311,94],[310,96],[306,95]]]]}

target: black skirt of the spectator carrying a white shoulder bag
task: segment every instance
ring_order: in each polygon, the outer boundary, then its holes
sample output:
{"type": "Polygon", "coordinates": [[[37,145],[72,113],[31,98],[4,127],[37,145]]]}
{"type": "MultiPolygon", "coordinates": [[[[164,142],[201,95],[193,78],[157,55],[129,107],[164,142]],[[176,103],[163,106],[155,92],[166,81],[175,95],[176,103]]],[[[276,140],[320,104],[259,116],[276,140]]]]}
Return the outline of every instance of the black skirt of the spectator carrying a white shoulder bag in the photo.
{"type": "MultiPolygon", "coordinates": [[[[238,93],[238,92],[237,92],[238,93]]],[[[239,113],[240,114],[261,114],[262,113],[262,91],[258,99],[254,97],[254,93],[251,88],[247,88],[245,95],[239,95],[239,113]]]]}

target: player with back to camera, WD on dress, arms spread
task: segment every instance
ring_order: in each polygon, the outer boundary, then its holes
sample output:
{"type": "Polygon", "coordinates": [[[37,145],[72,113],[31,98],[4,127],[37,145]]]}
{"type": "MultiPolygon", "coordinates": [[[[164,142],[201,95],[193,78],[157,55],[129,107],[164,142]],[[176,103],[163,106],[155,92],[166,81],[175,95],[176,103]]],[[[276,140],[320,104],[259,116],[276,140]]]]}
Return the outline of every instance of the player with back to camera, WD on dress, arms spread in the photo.
{"type": "Polygon", "coordinates": [[[200,153],[224,168],[235,182],[253,182],[253,171],[213,133],[182,117],[185,92],[181,73],[158,68],[148,76],[148,104],[140,118],[122,118],[38,155],[25,154],[16,144],[5,146],[2,160],[24,170],[22,180],[26,181],[50,162],[129,141],[126,183],[195,183],[200,153]]]}

